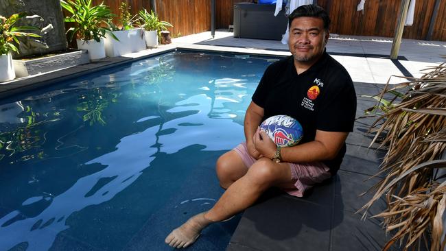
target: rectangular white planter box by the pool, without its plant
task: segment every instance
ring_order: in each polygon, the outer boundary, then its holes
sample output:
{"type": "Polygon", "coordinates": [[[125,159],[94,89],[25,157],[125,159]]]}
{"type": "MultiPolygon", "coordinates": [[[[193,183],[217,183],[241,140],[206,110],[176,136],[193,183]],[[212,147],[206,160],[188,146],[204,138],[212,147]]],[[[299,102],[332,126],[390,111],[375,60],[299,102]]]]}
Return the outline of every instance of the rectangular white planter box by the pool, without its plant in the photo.
{"type": "Polygon", "coordinates": [[[115,34],[119,41],[112,38],[110,34],[107,34],[104,39],[105,53],[108,57],[117,57],[145,49],[143,29],[141,28],[119,30],[113,32],[113,34],[115,34]]]}

